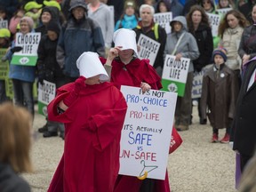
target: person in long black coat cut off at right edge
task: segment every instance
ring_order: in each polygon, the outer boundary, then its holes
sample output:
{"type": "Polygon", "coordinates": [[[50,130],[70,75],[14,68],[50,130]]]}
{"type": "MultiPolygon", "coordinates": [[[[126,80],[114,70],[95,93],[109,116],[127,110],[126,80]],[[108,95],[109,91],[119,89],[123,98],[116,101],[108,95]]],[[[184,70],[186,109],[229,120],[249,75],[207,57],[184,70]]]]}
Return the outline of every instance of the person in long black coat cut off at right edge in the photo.
{"type": "Polygon", "coordinates": [[[252,158],[256,147],[256,57],[246,64],[240,92],[236,101],[236,114],[230,141],[240,154],[241,172],[252,158]]]}

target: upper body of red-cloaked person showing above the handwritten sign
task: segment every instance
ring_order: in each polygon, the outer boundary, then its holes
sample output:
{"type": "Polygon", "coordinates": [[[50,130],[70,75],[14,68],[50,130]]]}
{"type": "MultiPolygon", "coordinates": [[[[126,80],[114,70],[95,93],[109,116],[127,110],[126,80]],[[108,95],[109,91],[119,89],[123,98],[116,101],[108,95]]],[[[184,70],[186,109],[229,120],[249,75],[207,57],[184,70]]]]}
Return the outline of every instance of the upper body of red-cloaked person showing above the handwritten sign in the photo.
{"type": "Polygon", "coordinates": [[[143,92],[149,89],[161,89],[161,78],[149,60],[138,58],[136,33],[127,28],[116,30],[113,36],[115,47],[108,53],[108,59],[100,59],[105,68],[111,68],[111,82],[118,88],[121,85],[141,87],[143,92]]]}

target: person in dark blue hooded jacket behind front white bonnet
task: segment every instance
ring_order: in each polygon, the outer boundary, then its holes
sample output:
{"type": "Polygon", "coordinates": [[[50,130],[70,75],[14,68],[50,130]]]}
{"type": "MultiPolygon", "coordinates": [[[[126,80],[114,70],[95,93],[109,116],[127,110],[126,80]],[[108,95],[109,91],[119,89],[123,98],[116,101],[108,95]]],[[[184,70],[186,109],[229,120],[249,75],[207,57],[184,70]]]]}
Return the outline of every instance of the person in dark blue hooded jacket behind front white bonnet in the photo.
{"type": "Polygon", "coordinates": [[[87,17],[87,5],[82,0],[70,4],[69,17],[57,44],[56,58],[65,82],[75,82],[79,76],[76,60],[83,52],[97,52],[105,56],[105,43],[99,24],[87,17]]]}

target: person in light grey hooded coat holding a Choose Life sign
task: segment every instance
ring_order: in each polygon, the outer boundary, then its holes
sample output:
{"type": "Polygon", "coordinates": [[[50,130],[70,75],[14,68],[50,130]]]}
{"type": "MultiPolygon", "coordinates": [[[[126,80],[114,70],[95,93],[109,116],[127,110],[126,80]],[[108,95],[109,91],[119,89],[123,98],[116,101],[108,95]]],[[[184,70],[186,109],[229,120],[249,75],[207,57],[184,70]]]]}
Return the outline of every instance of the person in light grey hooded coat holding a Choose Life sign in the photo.
{"type": "Polygon", "coordinates": [[[191,90],[194,72],[192,60],[196,60],[199,57],[199,50],[195,37],[188,33],[187,20],[184,16],[175,17],[170,22],[170,25],[172,27],[172,32],[167,35],[164,55],[173,54],[176,56],[176,60],[180,60],[181,57],[190,59],[185,93],[183,97],[178,97],[175,110],[176,129],[178,131],[185,131],[188,130],[188,124],[190,122],[190,115],[192,112],[191,90]],[[180,36],[182,38],[180,44],[178,44],[176,52],[173,52],[180,36]]]}

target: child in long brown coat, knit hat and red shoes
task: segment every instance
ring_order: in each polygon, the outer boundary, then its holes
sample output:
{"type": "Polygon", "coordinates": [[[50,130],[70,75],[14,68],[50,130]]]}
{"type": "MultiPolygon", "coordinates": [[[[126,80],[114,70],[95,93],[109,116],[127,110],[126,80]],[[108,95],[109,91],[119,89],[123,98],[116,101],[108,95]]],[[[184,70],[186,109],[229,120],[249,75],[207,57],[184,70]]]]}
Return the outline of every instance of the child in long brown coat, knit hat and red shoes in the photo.
{"type": "Polygon", "coordinates": [[[203,78],[201,111],[212,125],[212,142],[219,141],[219,129],[226,128],[221,143],[229,142],[229,131],[236,105],[236,78],[234,71],[225,64],[227,50],[220,47],[212,52],[214,63],[203,78]]]}

